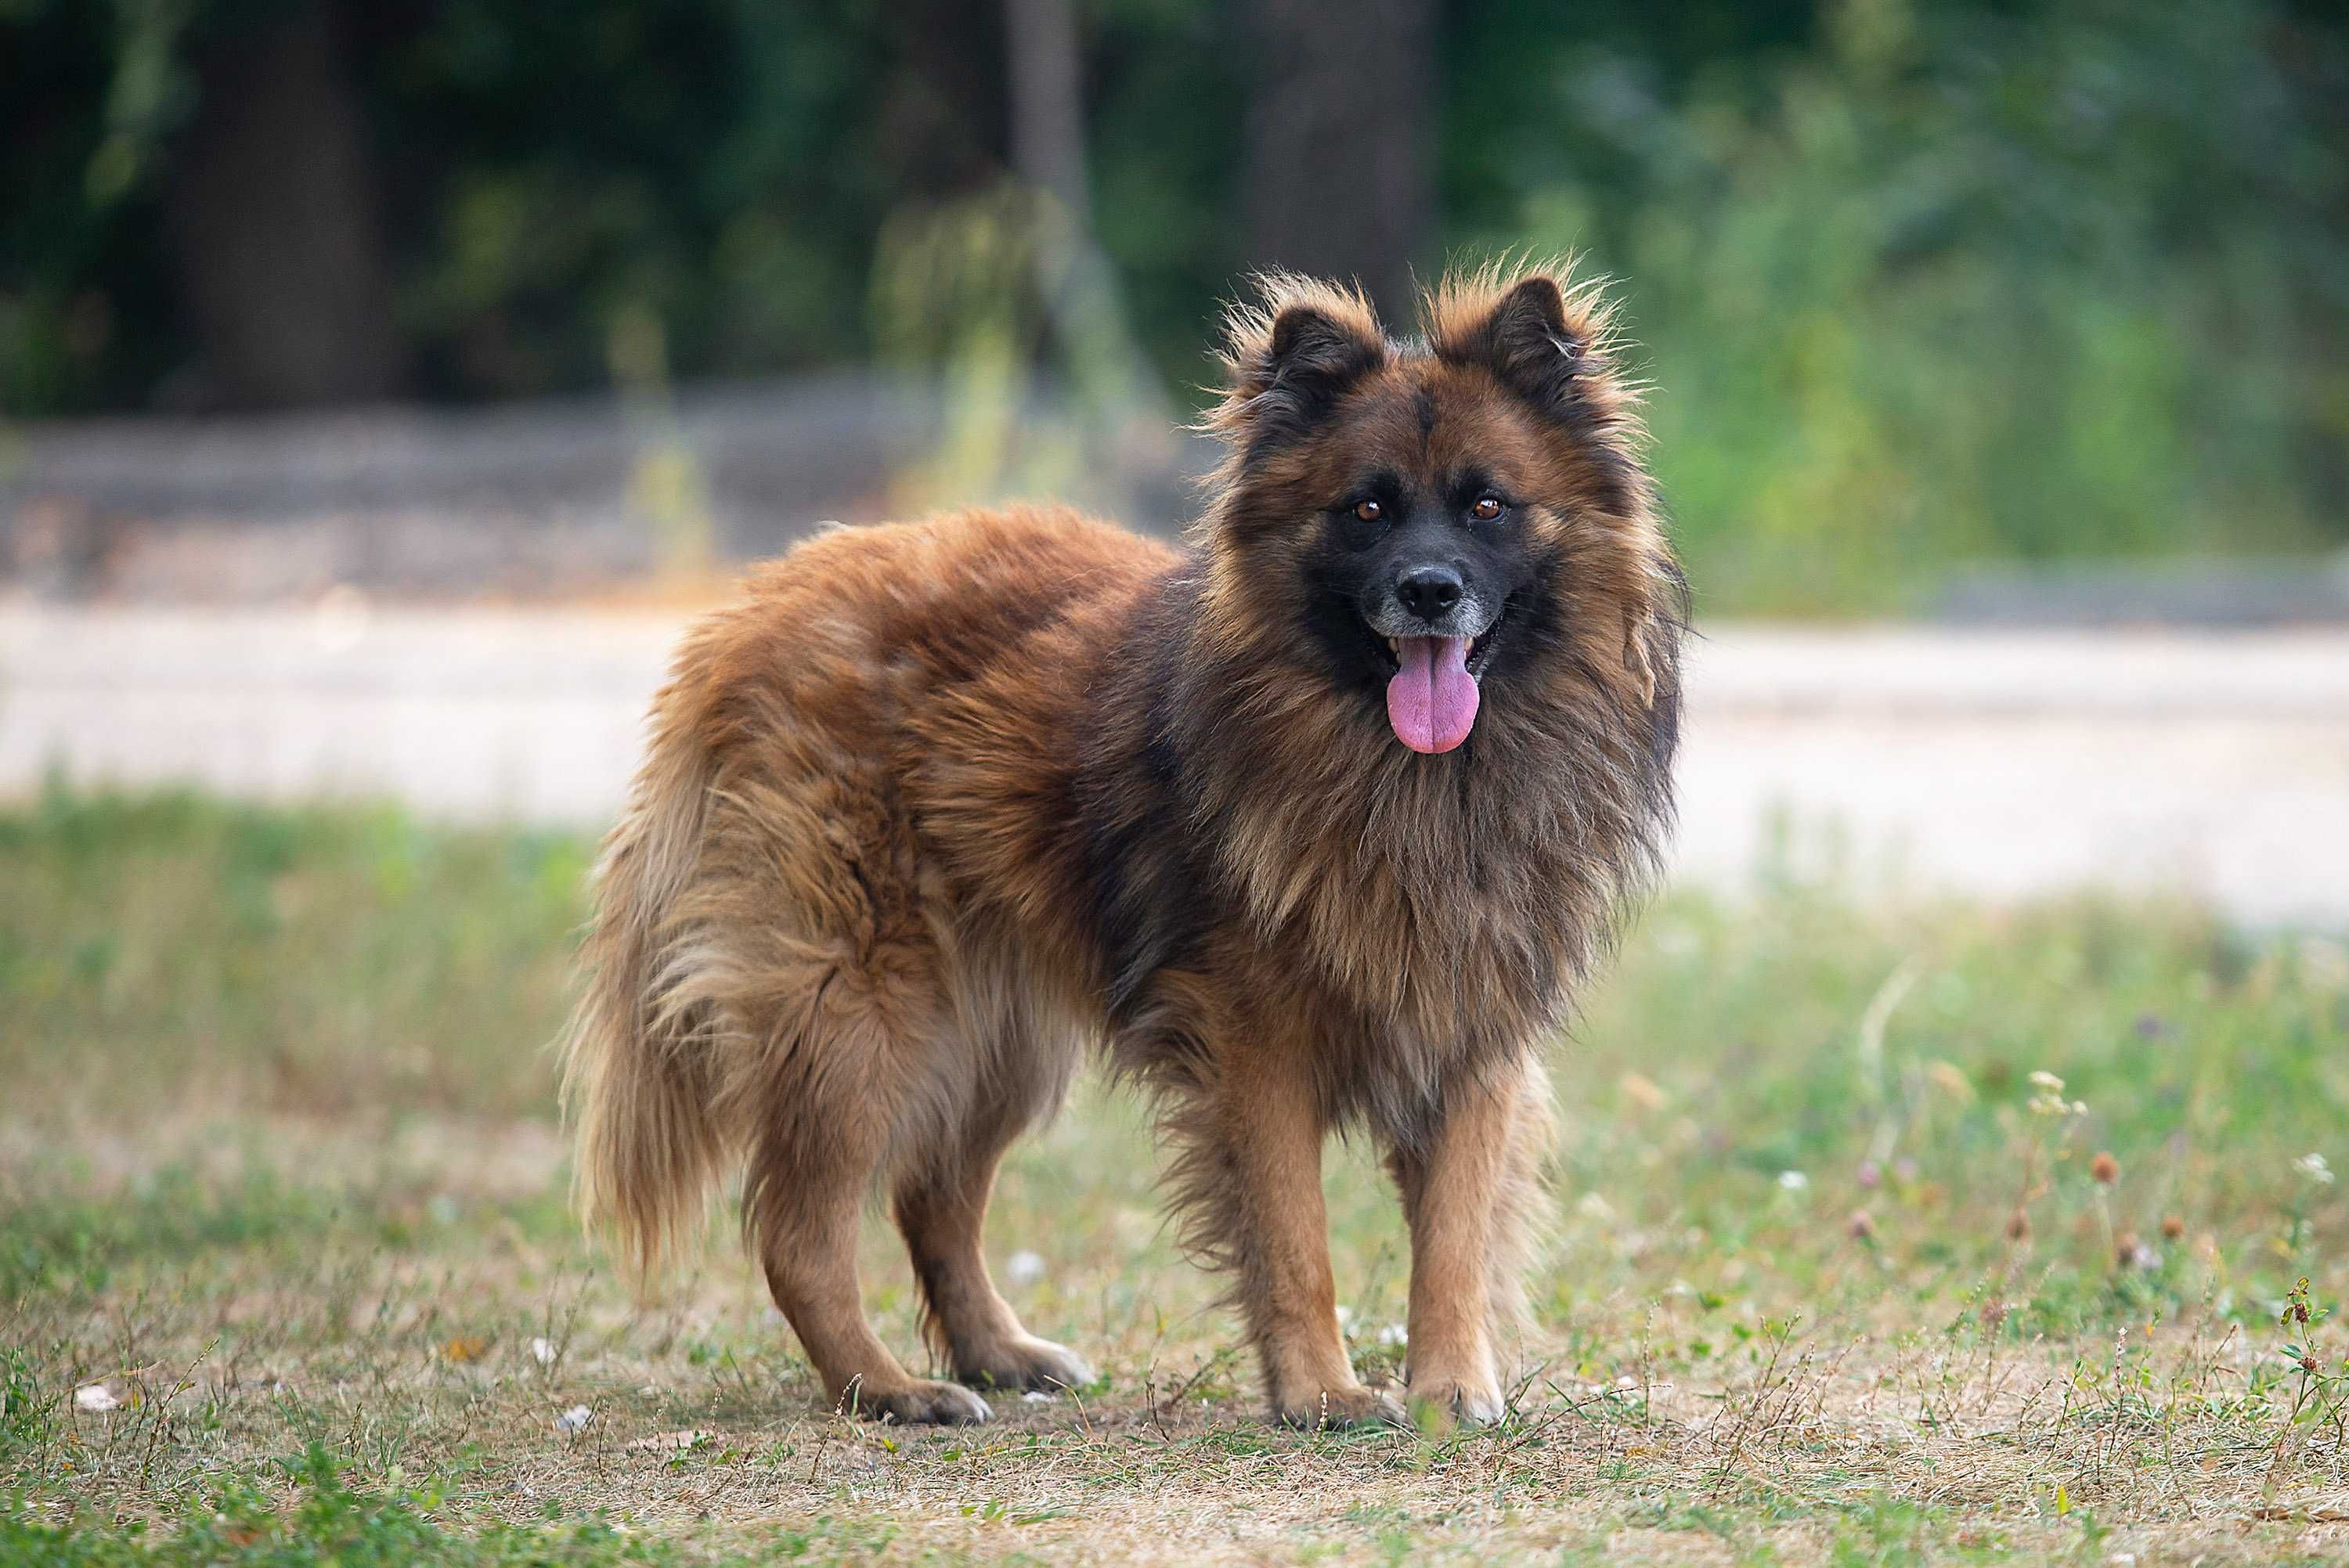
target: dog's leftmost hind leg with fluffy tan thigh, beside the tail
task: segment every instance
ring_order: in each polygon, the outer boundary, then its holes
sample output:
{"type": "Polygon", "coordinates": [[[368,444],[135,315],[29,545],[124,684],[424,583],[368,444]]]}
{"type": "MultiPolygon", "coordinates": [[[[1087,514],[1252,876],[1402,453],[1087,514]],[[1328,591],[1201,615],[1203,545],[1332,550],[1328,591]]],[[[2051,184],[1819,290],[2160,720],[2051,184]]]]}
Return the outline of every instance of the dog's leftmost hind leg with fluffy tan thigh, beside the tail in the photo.
{"type": "Polygon", "coordinates": [[[918,864],[886,784],[738,786],[684,904],[681,988],[714,1016],[714,1120],[747,1153],[742,1225],[834,1404],[987,1420],[914,1378],[864,1319],[857,1230],[881,1178],[951,1124],[949,1002],[918,864]]]}

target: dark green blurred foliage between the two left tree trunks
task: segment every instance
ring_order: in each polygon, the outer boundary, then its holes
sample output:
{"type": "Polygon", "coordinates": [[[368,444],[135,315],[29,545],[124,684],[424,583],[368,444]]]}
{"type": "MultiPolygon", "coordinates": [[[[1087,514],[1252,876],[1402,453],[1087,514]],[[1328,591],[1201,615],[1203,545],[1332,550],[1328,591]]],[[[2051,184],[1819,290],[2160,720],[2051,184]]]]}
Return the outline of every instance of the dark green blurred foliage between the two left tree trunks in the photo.
{"type": "Polygon", "coordinates": [[[430,390],[627,380],[651,319],[693,376],[843,359],[881,218],[879,7],[458,0],[364,61],[395,143],[430,390]]]}

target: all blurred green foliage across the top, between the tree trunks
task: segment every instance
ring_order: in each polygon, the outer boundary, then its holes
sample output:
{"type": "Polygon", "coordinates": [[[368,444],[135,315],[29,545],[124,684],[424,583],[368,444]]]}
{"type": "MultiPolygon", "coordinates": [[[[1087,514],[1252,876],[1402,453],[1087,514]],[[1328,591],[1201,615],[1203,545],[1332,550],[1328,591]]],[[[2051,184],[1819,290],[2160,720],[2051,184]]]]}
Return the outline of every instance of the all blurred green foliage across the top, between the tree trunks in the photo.
{"type": "MultiPolygon", "coordinates": [[[[1257,261],[1243,21],[1081,12],[1095,228],[1186,399],[1257,261]]],[[[202,61],[272,16],[0,5],[0,408],[186,385],[167,197],[202,61]]],[[[1017,256],[970,272],[989,298],[904,298],[926,237],[1005,200],[994,7],[444,0],[345,7],[343,38],[418,392],[1066,369],[1017,256]]],[[[1438,249],[1623,279],[1701,606],[1893,610],[1971,559],[2349,538],[2349,31],[2323,7],[1449,0],[1438,42],[1438,249]]]]}

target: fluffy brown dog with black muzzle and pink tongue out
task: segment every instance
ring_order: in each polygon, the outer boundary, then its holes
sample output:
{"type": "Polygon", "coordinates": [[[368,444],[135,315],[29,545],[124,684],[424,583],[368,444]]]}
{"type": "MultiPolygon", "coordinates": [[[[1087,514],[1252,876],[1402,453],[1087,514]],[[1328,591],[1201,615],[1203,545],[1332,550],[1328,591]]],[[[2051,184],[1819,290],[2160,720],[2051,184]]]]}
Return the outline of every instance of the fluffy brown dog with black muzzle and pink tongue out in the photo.
{"type": "Polygon", "coordinates": [[[989,1415],[864,1322],[876,1183],[961,1383],[1090,1380],[980,1225],[1099,1047],[1278,1415],[1402,1415],[1339,1340],[1339,1127],[1409,1221],[1409,1394],[1501,1413],[1539,1045],[1670,819],[1684,589],[1595,296],[1487,272],[1426,310],[1395,343],[1266,279],[1184,552],[1064,512],[834,530],[679,653],[566,1045],[580,1197],[651,1268],[747,1167],[834,1399],[989,1415]]]}

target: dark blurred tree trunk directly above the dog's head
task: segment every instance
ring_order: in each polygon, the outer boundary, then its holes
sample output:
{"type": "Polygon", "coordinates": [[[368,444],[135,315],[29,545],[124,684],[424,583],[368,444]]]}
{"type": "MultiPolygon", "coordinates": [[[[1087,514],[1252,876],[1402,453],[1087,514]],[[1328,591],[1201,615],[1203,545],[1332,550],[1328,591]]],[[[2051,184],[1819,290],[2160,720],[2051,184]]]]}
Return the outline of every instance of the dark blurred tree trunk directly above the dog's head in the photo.
{"type": "Polygon", "coordinates": [[[1435,207],[1435,0],[1259,0],[1247,14],[1250,265],[1360,279],[1388,324],[1407,324],[1435,207]]]}

